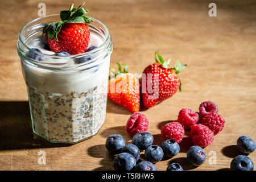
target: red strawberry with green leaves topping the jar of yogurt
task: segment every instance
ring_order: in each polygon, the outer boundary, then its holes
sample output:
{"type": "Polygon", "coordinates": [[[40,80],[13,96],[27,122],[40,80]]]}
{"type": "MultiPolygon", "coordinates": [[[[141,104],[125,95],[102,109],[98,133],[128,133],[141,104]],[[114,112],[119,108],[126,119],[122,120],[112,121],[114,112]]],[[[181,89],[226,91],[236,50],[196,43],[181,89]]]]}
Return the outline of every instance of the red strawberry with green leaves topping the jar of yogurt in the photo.
{"type": "Polygon", "coordinates": [[[81,6],[75,9],[72,4],[68,11],[60,12],[60,22],[51,22],[44,26],[43,34],[46,34],[46,42],[51,51],[64,51],[71,55],[86,51],[90,42],[88,25],[92,19],[84,15],[88,10],[81,6]]]}

